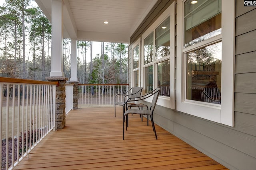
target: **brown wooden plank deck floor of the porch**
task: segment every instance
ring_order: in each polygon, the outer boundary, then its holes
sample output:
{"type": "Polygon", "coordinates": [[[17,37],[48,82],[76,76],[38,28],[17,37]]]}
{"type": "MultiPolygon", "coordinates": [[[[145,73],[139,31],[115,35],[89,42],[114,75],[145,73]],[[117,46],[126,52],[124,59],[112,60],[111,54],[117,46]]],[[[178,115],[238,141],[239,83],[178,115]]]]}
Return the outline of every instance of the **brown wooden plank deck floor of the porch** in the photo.
{"type": "Polygon", "coordinates": [[[66,127],[53,131],[14,169],[37,170],[227,170],[146,118],[129,116],[122,140],[122,107],[72,110],[66,127]],[[151,123],[151,122],[150,122],[151,123]]]}

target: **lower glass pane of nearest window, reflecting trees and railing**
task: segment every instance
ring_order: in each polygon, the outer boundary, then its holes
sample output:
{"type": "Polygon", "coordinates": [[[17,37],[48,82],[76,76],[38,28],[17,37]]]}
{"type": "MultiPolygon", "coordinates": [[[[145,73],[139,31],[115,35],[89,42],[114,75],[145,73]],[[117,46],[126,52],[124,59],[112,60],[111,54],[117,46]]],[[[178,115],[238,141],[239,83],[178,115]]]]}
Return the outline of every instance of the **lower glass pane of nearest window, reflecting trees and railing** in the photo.
{"type": "Polygon", "coordinates": [[[221,47],[219,42],[186,54],[186,99],[220,104],[221,47]]]}

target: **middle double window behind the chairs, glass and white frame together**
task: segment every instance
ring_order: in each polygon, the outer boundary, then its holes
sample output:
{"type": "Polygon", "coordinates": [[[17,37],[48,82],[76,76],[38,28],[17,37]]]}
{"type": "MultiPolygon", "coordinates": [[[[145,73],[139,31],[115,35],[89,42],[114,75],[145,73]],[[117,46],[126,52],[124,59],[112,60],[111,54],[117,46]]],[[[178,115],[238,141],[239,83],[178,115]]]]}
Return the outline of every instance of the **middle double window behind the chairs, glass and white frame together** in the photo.
{"type": "MultiPolygon", "coordinates": [[[[174,109],[175,2],[142,35],[145,93],[160,88],[158,105],[174,109]]],[[[150,101],[150,100],[149,100],[150,101]]]]}

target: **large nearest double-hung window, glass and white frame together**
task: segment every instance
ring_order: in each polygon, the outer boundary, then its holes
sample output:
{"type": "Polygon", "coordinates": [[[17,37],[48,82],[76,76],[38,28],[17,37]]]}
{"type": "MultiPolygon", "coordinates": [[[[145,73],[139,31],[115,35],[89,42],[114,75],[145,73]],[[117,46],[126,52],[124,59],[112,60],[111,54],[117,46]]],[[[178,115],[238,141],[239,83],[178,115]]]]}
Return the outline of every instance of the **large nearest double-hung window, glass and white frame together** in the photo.
{"type": "Polygon", "coordinates": [[[234,0],[177,9],[177,110],[233,126],[234,0]]]}

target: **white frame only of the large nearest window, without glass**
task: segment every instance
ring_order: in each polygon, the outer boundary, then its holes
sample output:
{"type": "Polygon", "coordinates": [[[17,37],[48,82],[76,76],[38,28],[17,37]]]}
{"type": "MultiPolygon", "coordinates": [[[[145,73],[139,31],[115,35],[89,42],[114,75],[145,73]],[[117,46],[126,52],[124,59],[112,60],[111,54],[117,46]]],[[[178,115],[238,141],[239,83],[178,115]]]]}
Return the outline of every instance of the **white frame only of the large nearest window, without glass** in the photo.
{"type": "MultiPolygon", "coordinates": [[[[234,50],[235,50],[235,0],[222,0],[222,34],[206,41],[222,41],[221,105],[186,100],[186,60],[183,49],[184,2],[177,4],[177,111],[234,126],[234,50]]],[[[198,43],[198,46],[200,44],[198,43]]]]}

